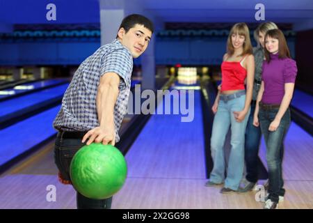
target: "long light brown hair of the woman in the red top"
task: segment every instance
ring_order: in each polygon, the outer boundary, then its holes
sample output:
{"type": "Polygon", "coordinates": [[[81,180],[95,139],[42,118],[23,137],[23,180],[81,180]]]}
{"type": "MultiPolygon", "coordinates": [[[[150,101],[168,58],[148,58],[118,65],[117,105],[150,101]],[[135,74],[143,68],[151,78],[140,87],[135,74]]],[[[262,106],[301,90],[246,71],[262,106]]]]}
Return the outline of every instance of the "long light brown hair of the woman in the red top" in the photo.
{"type": "Polygon", "coordinates": [[[232,45],[232,34],[238,34],[240,36],[245,37],[245,42],[243,43],[243,52],[240,56],[246,54],[252,54],[252,45],[250,41],[250,33],[246,23],[240,22],[234,24],[232,29],[230,30],[230,35],[227,38],[227,54],[232,55],[234,54],[234,46],[232,45]]]}

